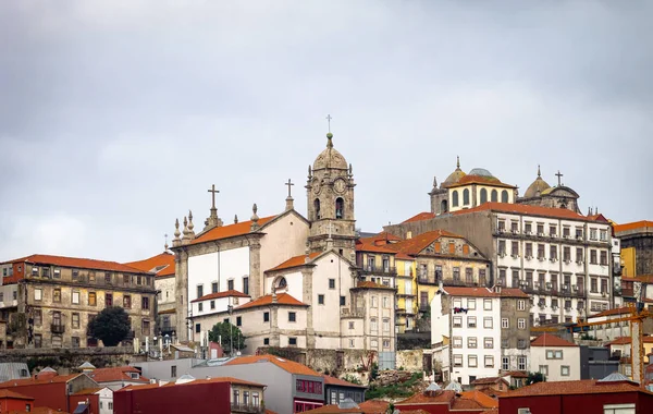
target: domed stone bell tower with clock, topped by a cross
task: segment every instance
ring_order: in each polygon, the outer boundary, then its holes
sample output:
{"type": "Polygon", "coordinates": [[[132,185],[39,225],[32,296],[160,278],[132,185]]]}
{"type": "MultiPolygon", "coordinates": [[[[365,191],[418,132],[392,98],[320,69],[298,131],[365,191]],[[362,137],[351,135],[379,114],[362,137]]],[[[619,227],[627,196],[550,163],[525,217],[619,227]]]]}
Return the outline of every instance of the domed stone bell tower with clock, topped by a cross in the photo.
{"type": "Polygon", "coordinates": [[[306,184],[311,252],[334,249],[347,259],[356,257],[354,175],[352,165],[333,148],[333,134],[326,134],[324,149],[308,167],[306,184]]]}

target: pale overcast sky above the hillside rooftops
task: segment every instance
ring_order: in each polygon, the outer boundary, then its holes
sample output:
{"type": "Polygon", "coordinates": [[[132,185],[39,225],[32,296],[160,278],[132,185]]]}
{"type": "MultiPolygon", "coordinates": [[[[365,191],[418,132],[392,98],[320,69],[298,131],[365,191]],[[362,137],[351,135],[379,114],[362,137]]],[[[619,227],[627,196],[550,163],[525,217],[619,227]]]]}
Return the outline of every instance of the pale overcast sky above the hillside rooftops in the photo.
{"type": "Polygon", "coordinates": [[[433,175],[537,166],[617,222],[653,219],[653,15],[639,1],[0,2],[0,261],[163,251],[215,184],[225,222],[306,214],[353,163],[357,227],[429,209],[433,175]],[[463,4],[464,3],[464,4],[463,4]],[[530,5],[528,5],[530,4],[530,5]]]}

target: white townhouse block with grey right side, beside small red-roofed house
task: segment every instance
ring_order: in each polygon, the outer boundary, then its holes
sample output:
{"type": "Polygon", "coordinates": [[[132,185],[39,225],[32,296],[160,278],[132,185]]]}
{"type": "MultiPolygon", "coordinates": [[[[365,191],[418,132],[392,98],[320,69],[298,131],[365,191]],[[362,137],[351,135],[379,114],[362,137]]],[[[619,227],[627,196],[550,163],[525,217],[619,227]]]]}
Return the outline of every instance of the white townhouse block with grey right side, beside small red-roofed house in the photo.
{"type": "Polygon", "coordinates": [[[518,289],[442,288],[431,302],[433,365],[442,380],[469,386],[501,372],[527,370],[527,304],[518,289]]]}

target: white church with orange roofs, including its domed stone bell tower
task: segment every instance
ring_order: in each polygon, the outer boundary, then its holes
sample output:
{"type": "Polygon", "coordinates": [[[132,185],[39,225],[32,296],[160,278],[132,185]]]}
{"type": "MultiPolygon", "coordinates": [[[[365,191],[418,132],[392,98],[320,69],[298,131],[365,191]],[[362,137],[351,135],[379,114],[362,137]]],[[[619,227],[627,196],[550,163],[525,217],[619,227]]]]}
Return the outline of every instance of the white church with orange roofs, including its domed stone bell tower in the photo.
{"type": "MultiPolygon", "coordinates": [[[[294,209],[224,224],[213,200],[205,228],[175,223],[176,332],[206,342],[231,321],[259,346],[394,351],[395,288],[359,278],[354,176],[333,147],[308,168],[307,217],[294,209]],[[183,226],[183,227],[182,227],[183,226]]],[[[210,192],[215,192],[214,188],[210,192]]],[[[214,199],[214,198],[213,198],[214,199]]],[[[224,338],[224,341],[233,341],[224,338]]]]}

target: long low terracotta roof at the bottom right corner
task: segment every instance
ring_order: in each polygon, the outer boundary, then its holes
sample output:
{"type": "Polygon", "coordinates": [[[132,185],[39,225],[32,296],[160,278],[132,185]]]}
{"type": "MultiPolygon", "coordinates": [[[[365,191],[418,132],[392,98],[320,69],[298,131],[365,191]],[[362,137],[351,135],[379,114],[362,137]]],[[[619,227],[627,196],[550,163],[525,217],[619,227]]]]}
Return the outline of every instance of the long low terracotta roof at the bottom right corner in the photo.
{"type": "Polygon", "coordinates": [[[569,394],[596,394],[612,392],[643,391],[637,383],[630,381],[600,382],[596,379],[579,379],[575,381],[537,382],[521,387],[501,395],[504,398],[534,397],[534,395],[569,395],[569,394]]]}

